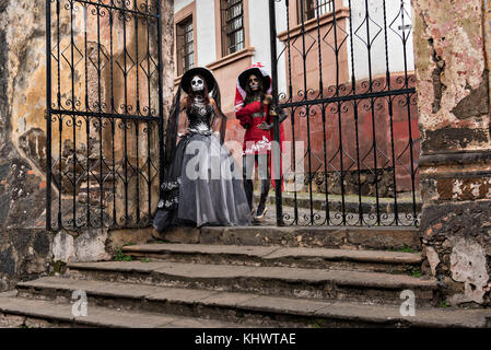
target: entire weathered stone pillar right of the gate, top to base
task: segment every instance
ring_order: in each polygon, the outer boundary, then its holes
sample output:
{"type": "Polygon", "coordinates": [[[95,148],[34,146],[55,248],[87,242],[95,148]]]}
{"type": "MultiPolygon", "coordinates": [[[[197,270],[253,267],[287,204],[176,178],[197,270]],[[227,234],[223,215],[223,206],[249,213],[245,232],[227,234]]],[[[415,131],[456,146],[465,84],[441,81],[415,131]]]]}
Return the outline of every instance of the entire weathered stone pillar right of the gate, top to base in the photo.
{"type": "Polygon", "coordinates": [[[490,20],[489,4],[482,0],[412,4],[426,268],[449,302],[489,305],[490,33],[483,25],[490,20]]]}

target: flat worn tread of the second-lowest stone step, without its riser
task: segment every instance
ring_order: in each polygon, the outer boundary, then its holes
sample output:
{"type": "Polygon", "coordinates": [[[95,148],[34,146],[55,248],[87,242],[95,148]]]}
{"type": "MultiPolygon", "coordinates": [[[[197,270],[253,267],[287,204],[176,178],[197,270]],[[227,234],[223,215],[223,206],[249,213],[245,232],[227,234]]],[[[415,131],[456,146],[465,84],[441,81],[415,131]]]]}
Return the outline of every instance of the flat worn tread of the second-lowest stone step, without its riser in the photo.
{"type": "MultiPolygon", "coordinates": [[[[199,298],[183,298],[182,289],[147,287],[128,283],[107,283],[102,281],[80,281],[70,279],[44,278],[20,283],[20,288],[51,289],[72,292],[85,290],[87,295],[97,298],[138,299],[153,302],[184,303],[192,305],[237,308],[289,316],[360,320],[375,324],[402,323],[412,327],[486,327],[491,311],[465,311],[458,308],[418,307],[416,316],[400,315],[398,305],[370,305],[354,302],[313,301],[292,298],[265,296],[234,292],[201,291],[199,298]],[[65,281],[63,281],[65,280],[65,281]],[[109,288],[113,287],[110,290],[109,288]],[[167,292],[167,294],[165,294],[167,292]],[[176,293],[177,292],[177,293],[176,293]],[[173,296],[174,293],[174,296],[173,296]],[[279,306],[280,305],[280,306],[279,306]]],[[[186,292],[186,290],[184,290],[186,292]]],[[[198,291],[194,291],[195,293],[198,291]]]]}

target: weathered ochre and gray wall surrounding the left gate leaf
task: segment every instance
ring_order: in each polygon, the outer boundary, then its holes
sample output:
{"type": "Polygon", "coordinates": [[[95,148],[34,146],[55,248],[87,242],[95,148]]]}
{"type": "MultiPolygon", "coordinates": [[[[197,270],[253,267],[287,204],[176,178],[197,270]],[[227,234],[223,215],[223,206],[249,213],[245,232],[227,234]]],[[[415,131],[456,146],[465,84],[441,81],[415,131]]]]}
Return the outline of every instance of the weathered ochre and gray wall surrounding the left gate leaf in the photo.
{"type": "MultiPolygon", "coordinates": [[[[0,0],[0,291],[60,262],[109,258],[151,231],[47,232],[45,0],[0,0]]],[[[165,112],[173,81],[173,1],[162,1],[165,112]]],[[[67,138],[70,138],[67,136],[67,138]]]]}

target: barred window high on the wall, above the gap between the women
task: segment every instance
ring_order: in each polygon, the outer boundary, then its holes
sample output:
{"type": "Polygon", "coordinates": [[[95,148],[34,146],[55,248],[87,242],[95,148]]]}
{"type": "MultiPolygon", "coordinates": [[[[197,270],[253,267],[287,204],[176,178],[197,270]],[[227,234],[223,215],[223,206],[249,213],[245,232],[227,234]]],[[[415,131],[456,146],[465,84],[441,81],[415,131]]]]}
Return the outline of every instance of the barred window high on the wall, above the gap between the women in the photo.
{"type": "Polygon", "coordinates": [[[220,0],[222,25],[222,56],[245,47],[243,0],[220,0]]]}

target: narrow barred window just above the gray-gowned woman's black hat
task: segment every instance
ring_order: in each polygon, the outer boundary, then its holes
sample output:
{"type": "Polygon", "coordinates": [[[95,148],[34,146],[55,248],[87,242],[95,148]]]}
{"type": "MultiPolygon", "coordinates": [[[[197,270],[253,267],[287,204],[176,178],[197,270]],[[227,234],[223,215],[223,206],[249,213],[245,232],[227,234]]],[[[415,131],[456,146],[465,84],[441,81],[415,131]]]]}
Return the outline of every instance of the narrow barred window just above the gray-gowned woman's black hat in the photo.
{"type": "Polygon", "coordinates": [[[195,37],[192,16],[177,23],[177,74],[184,74],[195,66],[195,37]]]}

